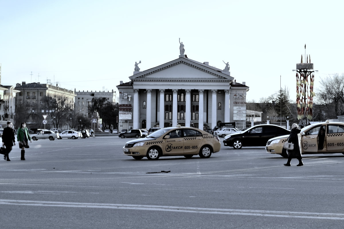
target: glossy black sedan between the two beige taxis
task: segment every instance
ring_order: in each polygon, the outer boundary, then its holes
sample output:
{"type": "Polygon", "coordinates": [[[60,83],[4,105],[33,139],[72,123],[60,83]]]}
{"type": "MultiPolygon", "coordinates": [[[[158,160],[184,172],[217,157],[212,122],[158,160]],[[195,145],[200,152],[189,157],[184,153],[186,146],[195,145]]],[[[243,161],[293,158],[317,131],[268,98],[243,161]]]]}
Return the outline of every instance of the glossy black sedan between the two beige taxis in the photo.
{"type": "Polygon", "coordinates": [[[243,133],[226,135],[223,139],[223,145],[232,146],[234,149],[241,149],[243,146],[266,146],[266,142],[270,138],[287,134],[290,134],[290,130],[277,125],[256,125],[243,133]]]}

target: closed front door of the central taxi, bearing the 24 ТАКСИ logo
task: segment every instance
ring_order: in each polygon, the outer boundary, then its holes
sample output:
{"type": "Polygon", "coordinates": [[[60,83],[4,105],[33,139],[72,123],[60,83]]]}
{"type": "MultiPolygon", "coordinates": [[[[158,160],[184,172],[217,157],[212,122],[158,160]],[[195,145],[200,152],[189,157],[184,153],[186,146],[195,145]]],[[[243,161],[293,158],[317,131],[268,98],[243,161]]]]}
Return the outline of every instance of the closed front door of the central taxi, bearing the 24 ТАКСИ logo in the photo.
{"type": "Polygon", "coordinates": [[[163,154],[183,154],[184,139],[181,136],[181,130],[173,130],[167,135],[170,138],[163,139],[163,154]]]}

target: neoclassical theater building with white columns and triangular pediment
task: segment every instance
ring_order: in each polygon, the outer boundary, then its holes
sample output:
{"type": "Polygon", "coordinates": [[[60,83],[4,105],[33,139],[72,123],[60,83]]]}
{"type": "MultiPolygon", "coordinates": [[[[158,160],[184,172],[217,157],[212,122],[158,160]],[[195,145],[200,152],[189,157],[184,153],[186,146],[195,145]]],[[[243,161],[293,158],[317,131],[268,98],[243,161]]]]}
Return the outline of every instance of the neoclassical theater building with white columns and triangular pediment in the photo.
{"type": "Polygon", "coordinates": [[[130,81],[120,81],[119,129],[179,124],[206,130],[221,122],[246,126],[249,87],[230,76],[228,62],[222,70],[182,54],[144,71],[136,63],[130,81]]]}

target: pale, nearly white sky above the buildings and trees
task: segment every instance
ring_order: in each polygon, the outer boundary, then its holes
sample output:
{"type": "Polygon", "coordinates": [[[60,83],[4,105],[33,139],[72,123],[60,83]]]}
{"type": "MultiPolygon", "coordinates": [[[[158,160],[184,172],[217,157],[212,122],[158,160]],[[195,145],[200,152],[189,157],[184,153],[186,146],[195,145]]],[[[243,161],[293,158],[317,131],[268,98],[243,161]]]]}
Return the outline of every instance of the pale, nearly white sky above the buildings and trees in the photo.
{"type": "MultiPolygon", "coordinates": [[[[320,77],[344,72],[343,1],[0,1],[1,84],[58,82],[117,91],[141,71],[179,58],[209,62],[250,87],[247,100],[281,87],[295,100],[296,63],[320,77]],[[32,75],[31,75],[32,72],[32,75]],[[281,76],[281,77],[280,77],[281,76]]],[[[117,91],[118,93],[118,91],[117,91]]]]}

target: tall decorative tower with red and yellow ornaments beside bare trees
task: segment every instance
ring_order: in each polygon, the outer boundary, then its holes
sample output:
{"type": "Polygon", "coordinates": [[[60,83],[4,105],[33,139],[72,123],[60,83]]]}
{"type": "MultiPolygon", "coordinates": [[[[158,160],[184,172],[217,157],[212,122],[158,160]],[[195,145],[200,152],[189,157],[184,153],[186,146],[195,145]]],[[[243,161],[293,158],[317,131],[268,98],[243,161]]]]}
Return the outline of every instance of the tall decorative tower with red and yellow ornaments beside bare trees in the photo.
{"type": "Polygon", "coordinates": [[[309,119],[312,119],[313,96],[315,96],[313,92],[313,64],[311,64],[311,56],[306,56],[306,45],[304,45],[304,49],[305,63],[303,63],[301,55],[301,63],[296,64],[296,70],[293,70],[296,71],[296,106],[298,119],[300,120],[299,126],[301,128],[310,125],[309,119]],[[308,78],[310,81],[308,81],[308,78]]]}

